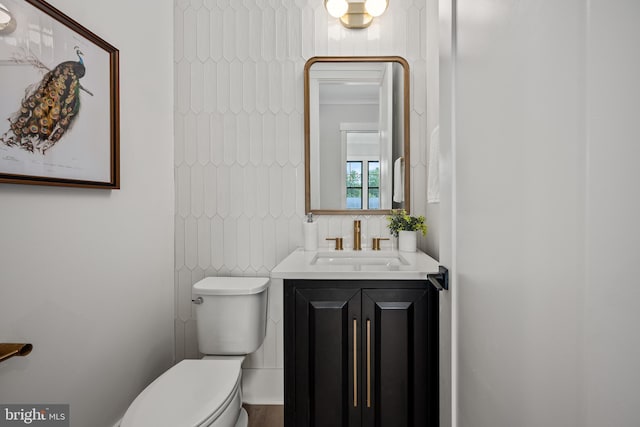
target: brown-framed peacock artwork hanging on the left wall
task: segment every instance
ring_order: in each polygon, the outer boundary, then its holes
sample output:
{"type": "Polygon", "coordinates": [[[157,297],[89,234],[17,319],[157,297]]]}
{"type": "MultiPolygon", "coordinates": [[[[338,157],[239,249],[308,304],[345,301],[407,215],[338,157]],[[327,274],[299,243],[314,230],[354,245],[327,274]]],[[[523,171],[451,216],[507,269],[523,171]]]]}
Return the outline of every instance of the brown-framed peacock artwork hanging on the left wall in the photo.
{"type": "Polygon", "coordinates": [[[120,188],[118,49],[42,0],[0,0],[0,183],[120,188]]]}

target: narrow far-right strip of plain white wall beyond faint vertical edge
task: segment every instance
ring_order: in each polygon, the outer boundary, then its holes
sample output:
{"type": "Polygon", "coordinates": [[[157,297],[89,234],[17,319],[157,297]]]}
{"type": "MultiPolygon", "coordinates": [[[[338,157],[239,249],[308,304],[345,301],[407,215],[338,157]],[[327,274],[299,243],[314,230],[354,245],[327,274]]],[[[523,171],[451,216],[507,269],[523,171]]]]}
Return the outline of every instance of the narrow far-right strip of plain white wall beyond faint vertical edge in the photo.
{"type": "Polygon", "coordinates": [[[591,0],[582,426],[640,425],[640,3],[591,0]]]}

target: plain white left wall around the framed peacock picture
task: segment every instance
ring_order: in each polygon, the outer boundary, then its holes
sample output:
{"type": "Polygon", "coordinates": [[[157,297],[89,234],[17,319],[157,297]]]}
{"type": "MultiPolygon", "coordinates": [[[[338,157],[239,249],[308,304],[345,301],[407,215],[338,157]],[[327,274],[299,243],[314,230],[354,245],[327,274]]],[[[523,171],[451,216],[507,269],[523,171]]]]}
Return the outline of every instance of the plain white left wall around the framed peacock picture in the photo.
{"type": "Polygon", "coordinates": [[[173,9],[50,3],[120,49],[122,189],[0,184],[0,402],[107,427],[173,361],[173,9]]]}

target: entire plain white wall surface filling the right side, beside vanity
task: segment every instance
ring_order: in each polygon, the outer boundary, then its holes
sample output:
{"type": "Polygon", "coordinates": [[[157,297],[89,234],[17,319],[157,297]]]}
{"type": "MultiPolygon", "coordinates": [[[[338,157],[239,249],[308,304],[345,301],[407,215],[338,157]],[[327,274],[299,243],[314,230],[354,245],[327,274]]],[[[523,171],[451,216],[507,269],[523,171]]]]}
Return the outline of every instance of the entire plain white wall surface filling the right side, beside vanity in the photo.
{"type": "Polygon", "coordinates": [[[452,3],[454,425],[638,425],[640,6],[452,3]]]}

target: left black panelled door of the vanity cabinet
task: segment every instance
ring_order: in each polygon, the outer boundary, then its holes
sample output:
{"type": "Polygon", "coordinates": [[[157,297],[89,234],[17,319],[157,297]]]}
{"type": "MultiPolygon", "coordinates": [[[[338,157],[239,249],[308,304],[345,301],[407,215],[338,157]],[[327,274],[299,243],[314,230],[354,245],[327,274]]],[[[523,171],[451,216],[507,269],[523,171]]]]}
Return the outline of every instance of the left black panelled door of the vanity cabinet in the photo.
{"type": "Polygon", "coordinates": [[[360,426],[360,290],[296,289],[294,298],[293,425],[360,426]]]}

